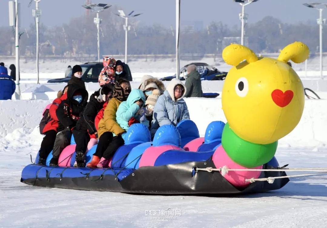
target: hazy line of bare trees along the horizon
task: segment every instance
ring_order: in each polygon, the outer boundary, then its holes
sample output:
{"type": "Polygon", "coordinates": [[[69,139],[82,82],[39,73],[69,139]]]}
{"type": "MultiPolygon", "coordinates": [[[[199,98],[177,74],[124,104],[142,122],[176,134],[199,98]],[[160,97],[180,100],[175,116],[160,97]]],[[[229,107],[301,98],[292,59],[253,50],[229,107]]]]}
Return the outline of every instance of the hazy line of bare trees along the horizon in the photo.
{"type": "MultiPolygon", "coordinates": [[[[90,55],[96,54],[95,15],[73,18],[62,26],[40,26],[40,55],[90,55]]],[[[124,20],[112,13],[101,13],[100,31],[101,55],[124,54],[125,31],[124,20]]],[[[154,24],[142,26],[129,20],[129,54],[174,54],[175,31],[171,28],[154,24]]],[[[35,55],[35,25],[31,24],[20,39],[21,55],[35,55]]],[[[314,22],[286,24],[267,16],[245,27],[249,47],[255,52],[278,52],[285,45],[294,41],[307,44],[311,52],[317,51],[319,45],[318,25],[314,22]]],[[[219,54],[224,37],[239,37],[240,26],[229,27],[222,22],[212,22],[200,31],[181,29],[180,53],[219,54]]],[[[0,27],[0,55],[14,55],[14,33],[11,27],[0,27]]],[[[323,42],[326,44],[327,36],[323,42]]],[[[327,45],[324,46],[324,51],[327,45]]]]}

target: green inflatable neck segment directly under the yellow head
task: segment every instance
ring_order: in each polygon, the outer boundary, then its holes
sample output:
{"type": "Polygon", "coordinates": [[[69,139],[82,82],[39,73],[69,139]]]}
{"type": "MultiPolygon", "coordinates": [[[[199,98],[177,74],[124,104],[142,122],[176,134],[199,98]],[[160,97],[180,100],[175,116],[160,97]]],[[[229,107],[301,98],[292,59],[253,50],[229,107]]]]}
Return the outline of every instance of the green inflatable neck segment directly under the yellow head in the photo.
{"type": "Polygon", "coordinates": [[[274,157],[278,141],[270,144],[248,142],[237,136],[226,123],[221,144],[234,162],[247,168],[253,168],[266,164],[274,157]]]}

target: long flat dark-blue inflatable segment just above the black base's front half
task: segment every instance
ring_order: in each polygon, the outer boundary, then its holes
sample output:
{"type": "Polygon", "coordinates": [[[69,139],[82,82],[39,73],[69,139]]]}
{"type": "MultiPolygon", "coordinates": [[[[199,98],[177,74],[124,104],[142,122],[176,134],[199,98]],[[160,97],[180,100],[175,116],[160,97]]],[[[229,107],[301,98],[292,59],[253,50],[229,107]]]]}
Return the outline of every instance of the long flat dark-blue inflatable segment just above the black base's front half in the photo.
{"type": "Polygon", "coordinates": [[[163,152],[154,163],[154,166],[163,166],[168,164],[177,164],[192,161],[206,161],[214,154],[215,151],[190,152],[182,150],[167,150],[163,152]]]}

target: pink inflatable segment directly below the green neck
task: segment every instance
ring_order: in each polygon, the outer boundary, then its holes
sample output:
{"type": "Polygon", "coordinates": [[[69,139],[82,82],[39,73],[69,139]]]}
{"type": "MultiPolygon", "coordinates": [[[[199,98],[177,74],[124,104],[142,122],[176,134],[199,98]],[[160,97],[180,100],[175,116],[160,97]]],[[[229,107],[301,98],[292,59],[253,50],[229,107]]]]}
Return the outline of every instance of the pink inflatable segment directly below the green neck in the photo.
{"type": "MultiPolygon", "coordinates": [[[[221,145],[216,149],[214,155],[212,156],[212,160],[216,168],[227,166],[231,169],[248,169],[238,165],[232,159],[230,159],[221,145]]],[[[262,166],[254,167],[252,169],[262,169],[262,166]]],[[[261,171],[229,171],[227,174],[225,174],[224,178],[235,187],[246,187],[250,184],[250,182],[245,182],[245,179],[258,178],[260,173],[261,171]]]]}

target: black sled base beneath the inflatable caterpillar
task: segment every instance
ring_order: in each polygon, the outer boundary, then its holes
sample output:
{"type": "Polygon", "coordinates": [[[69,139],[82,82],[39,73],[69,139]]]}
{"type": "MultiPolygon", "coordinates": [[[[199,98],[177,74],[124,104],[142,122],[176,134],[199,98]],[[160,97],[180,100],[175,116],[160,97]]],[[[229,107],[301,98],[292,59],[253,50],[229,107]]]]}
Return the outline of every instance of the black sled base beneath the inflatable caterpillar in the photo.
{"type": "MultiPolygon", "coordinates": [[[[35,173],[38,173],[37,170],[40,168],[51,169],[51,167],[40,167],[37,165],[29,166],[33,166],[30,168],[35,168],[35,173]]],[[[26,175],[24,175],[23,170],[21,182],[44,187],[141,194],[238,194],[280,189],[289,181],[288,178],[275,179],[273,184],[269,184],[267,181],[257,181],[248,185],[245,189],[237,189],[222,177],[219,172],[194,172],[194,167],[215,168],[215,165],[212,161],[209,161],[141,167],[133,170],[131,174],[121,181],[118,181],[115,175],[106,174],[106,172],[103,174],[102,178],[100,178],[100,175],[92,176],[87,174],[83,177],[73,177],[77,176],[76,172],[82,173],[80,169],[73,167],[58,167],[62,169],[62,174],[64,174],[61,175],[61,178],[51,177],[50,175],[48,175],[48,177],[42,175],[42,177],[38,176],[37,178],[35,175],[35,177],[30,178],[30,176],[27,175],[29,177],[24,179],[23,176],[26,177],[26,175]],[[75,175],[73,172],[75,172],[75,175]]],[[[92,169],[83,168],[83,170],[84,172],[90,172],[92,169]]],[[[92,174],[92,171],[90,174],[92,174]]],[[[262,172],[259,178],[285,175],[286,173],[283,171],[262,172]]]]}

